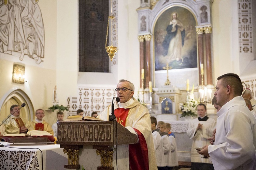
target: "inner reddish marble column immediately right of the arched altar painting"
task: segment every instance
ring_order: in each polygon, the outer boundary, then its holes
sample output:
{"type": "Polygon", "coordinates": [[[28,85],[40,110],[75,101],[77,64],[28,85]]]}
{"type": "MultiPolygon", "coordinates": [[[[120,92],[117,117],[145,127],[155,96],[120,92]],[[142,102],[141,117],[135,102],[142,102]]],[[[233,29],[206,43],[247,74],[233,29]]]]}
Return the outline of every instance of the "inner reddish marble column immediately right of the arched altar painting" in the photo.
{"type": "MultiPolygon", "coordinates": [[[[200,64],[203,64],[203,28],[196,28],[197,32],[197,39],[198,39],[198,73],[199,73],[199,80],[201,80],[201,73],[200,73],[200,64]]],[[[204,78],[203,78],[204,79],[204,78]]],[[[202,85],[201,81],[199,81],[199,85],[202,85]]]]}

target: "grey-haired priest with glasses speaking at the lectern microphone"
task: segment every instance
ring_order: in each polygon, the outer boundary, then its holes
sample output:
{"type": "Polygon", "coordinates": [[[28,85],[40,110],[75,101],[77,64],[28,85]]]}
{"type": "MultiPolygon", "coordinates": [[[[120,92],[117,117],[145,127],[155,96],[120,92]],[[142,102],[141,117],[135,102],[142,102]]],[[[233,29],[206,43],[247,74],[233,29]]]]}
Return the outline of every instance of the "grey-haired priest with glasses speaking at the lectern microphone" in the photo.
{"type": "MultiPolygon", "coordinates": [[[[119,145],[118,158],[129,156],[129,166],[134,169],[157,169],[156,157],[151,132],[151,121],[148,109],[133,98],[134,85],[127,80],[119,80],[116,94],[120,99],[114,102],[116,121],[131,133],[138,135],[138,143],[132,145],[119,145]],[[129,153],[124,152],[129,149],[129,153]]],[[[109,120],[111,105],[109,105],[97,118],[109,120]]]]}

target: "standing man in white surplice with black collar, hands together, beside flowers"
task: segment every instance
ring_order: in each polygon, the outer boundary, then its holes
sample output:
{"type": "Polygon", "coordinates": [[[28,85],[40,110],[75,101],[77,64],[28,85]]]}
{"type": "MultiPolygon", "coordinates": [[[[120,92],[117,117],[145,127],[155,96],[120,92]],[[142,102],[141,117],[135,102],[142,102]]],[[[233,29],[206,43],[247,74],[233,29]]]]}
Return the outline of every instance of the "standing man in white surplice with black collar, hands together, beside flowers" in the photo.
{"type": "Polygon", "coordinates": [[[216,128],[216,121],[206,116],[206,106],[202,103],[197,105],[198,118],[189,122],[187,135],[193,139],[191,148],[191,170],[213,168],[210,159],[201,158],[202,155],[197,153],[196,147],[203,147],[209,143],[208,138],[212,137],[213,131],[216,128]]]}

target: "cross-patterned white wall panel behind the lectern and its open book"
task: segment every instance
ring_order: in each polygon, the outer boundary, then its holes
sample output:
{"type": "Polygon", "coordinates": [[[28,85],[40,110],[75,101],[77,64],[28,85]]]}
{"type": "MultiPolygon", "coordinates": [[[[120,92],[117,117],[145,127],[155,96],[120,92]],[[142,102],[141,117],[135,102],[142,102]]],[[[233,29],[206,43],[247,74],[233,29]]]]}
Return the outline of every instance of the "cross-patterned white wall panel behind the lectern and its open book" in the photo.
{"type": "Polygon", "coordinates": [[[69,115],[76,115],[78,109],[83,109],[85,116],[91,116],[92,112],[101,113],[112,103],[116,92],[113,88],[79,87],[76,97],[68,97],[69,115]]]}

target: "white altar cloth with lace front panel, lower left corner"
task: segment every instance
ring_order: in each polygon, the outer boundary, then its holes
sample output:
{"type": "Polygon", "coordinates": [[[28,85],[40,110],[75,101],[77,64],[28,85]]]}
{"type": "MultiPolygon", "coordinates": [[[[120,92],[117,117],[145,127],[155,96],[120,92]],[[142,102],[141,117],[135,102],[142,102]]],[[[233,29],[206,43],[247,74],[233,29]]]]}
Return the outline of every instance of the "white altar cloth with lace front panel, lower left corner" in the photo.
{"type": "Polygon", "coordinates": [[[0,169],[5,170],[63,170],[67,155],[57,144],[10,145],[0,142],[0,169]],[[40,151],[41,150],[41,151],[40,151]]]}

